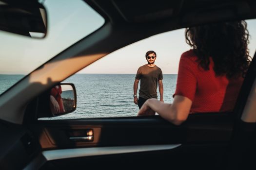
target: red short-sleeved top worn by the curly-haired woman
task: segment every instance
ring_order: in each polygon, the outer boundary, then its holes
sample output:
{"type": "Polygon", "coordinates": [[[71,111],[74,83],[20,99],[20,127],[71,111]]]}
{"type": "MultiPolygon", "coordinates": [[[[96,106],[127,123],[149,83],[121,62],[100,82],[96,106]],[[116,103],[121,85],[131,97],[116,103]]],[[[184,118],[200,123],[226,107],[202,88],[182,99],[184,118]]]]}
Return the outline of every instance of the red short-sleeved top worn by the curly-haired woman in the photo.
{"type": "Polygon", "coordinates": [[[209,70],[198,66],[196,60],[197,56],[193,50],[181,55],[174,96],[189,98],[192,101],[191,113],[232,111],[243,78],[228,79],[226,76],[216,76],[211,57],[209,70]]]}

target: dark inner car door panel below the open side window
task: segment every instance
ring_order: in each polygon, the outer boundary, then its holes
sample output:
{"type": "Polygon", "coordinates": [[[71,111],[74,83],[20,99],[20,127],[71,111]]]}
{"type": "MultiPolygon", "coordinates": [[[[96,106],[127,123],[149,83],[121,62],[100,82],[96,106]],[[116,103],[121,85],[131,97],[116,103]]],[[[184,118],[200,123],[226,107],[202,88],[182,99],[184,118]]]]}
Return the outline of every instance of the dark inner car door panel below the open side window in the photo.
{"type": "Polygon", "coordinates": [[[157,166],[162,161],[167,164],[170,159],[173,166],[179,167],[183,160],[197,167],[198,159],[203,162],[200,161],[200,166],[220,164],[232,135],[233,116],[232,113],[193,114],[181,126],[155,116],[40,120],[33,127],[39,134],[45,155],[52,150],[65,155],[49,159],[45,165],[47,168],[48,164],[62,168],[69,167],[69,164],[117,167],[127,164],[127,159],[146,167],[157,166]],[[93,130],[93,141],[70,140],[70,137],[84,135],[83,132],[88,130],[93,130]],[[134,147],[148,149],[133,152],[134,147]],[[106,149],[116,152],[100,154],[106,149]],[[68,156],[65,153],[68,150],[78,155],[68,156]],[[93,150],[96,152],[89,154],[93,150]]]}

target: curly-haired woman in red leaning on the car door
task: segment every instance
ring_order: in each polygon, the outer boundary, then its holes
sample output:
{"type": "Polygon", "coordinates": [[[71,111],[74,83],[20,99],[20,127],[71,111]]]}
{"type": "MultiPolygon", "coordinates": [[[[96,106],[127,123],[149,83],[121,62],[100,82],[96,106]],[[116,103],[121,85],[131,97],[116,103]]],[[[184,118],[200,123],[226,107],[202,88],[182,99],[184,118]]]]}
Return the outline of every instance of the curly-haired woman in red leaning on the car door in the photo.
{"type": "Polygon", "coordinates": [[[189,113],[234,109],[251,57],[245,21],[222,22],[187,28],[192,50],[181,55],[172,104],[147,100],[138,116],[155,115],[179,125],[189,113]]]}

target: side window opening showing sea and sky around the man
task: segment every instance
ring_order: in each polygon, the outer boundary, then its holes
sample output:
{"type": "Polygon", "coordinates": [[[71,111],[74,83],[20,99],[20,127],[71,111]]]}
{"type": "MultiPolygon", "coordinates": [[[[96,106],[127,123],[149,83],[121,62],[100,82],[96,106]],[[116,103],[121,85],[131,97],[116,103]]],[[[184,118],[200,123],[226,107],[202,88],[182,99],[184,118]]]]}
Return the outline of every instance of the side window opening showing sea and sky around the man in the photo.
{"type": "MultiPolygon", "coordinates": [[[[250,56],[253,57],[256,51],[256,19],[247,20],[247,24],[250,56]]],[[[156,65],[163,72],[164,102],[172,103],[179,58],[190,49],[185,42],[184,31],[170,31],[128,45],[66,79],[63,82],[76,86],[77,109],[51,119],[137,116],[139,109],[133,102],[133,84],[138,67],[146,64],[145,52],[148,50],[157,52],[156,65]]]]}

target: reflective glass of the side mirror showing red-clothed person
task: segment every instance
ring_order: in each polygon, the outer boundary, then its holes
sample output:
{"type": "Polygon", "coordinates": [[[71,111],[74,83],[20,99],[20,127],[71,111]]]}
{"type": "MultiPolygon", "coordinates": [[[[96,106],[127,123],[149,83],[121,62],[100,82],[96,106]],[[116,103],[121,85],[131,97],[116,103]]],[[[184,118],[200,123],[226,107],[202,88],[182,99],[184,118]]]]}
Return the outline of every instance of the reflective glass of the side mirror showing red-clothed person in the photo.
{"type": "Polygon", "coordinates": [[[50,92],[50,110],[54,116],[76,109],[76,91],[71,84],[55,85],[50,92]]]}

